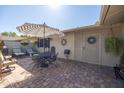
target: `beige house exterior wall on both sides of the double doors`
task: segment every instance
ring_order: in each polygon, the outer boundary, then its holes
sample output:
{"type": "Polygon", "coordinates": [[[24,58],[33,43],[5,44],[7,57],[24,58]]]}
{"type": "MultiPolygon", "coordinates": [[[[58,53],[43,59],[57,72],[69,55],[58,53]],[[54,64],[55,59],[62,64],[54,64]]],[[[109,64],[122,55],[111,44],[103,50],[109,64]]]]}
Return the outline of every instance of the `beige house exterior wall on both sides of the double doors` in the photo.
{"type": "MultiPolygon", "coordinates": [[[[124,26],[113,26],[112,28],[114,36],[118,37],[121,41],[124,41],[124,26]]],[[[78,55],[78,59],[82,60],[82,55],[79,53],[79,51],[82,51],[81,48],[77,51],[76,48],[81,47],[80,44],[83,42],[83,38],[81,37],[81,34],[79,37],[76,37],[76,33],[81,32],[87,32],[88,33],[99,33],[99,63],[100,65],[106,65],[106,66],[115,66],[116,64],[119,64],[120,61],[120,55],[114,56],[112,54],[107,54],[105,52],[105,46],[104,41],[105,38],[111,35],[111,29],[110,27],[103,27],[98,29],[85,29],[80,31],[72,31],[72,32],[65,32],[65,39],[67,39],[67,45],[62,46],[61,45],[61,39],[60,38],[53,38],[51,41],[51,46],[55,46],[57,49],[57,52],[59,52],[59,58],[65,58],[64,56],[64,49],[70,49],[71,55],[69,59],[71,60],[77,60],[75,56],[78,55]],[[76,38],[80,38],[79,40],[76,40],[76,38]]],[[[87,41],[85,41],[87,42],[87,41]]],[[[95,54],[95,53],[94,53],[95,54]]],[[[81,61],[78,60],[78,61],[81,61]]],[[[84,62],[82,60],[82,62],[84,62]]]]}

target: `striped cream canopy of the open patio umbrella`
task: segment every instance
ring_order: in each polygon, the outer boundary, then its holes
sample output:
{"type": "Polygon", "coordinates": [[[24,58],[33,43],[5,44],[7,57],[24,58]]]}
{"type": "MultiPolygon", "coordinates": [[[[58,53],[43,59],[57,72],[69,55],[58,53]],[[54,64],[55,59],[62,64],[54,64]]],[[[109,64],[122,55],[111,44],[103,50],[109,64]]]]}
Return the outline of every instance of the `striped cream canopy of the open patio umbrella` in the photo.
{"type": "Polygon", "coordinates": [[[47,26],[45,23],[44,24],[25,23],[22,26],[18,26],[17,30],[28,36],[33,37],[45,38],[51,35],[64,36],[64,34],[61,31],[59,31],[59,29],[47,26]]]}

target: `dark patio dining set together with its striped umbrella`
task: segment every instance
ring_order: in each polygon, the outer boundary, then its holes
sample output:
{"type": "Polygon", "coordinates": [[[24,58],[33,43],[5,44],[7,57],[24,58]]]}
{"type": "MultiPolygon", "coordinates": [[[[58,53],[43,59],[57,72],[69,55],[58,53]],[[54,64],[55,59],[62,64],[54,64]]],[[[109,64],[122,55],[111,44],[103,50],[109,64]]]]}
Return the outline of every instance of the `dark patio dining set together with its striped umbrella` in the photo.
{"type": "MultiPolygon", "coordinates": [[[[45,24],[32,24],[32,23],[25,23],[21,26],[16,27],[19,32],[22,32],[26,35],[37,37],[40,39],[40,47],[43,48],[43,53],[32,53],[33,51],[31,49],[27,49],[27,52],[29,52],[29,55],[32,56],[33,60],[36,60],[41,63],[42,67],[48,67],[48,63],[52,63],[56,60],[58,53],[55,52],[55,47],[51,47],[51,51],[45,51],[45,48],[50,48],[50,42],[49,44],[46,43],[49,36],[58,35],[59,37],[63,37],[64,34],[59,31],[57,28],[50,27],[45,24]],[[41,39],[42,38],[42,39],[41,39]],[[42,43],[42,44],[41,44],[42,43]]],[[[20,51],[19,51],[20,52],[20,51]]],[[[22,54],[22,53],[19,53],[22,54]]]]}

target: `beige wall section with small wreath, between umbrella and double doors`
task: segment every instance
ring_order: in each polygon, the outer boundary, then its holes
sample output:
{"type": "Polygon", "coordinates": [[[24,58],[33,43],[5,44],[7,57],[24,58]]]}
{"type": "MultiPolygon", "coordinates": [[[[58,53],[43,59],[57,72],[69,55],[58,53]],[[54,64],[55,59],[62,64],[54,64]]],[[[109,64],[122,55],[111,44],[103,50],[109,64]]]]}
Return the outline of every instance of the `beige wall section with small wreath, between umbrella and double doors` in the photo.
{"type": "Polygon", "coordinates": [[[69,59],[74,60],[74,32],[65,33],[63,38],[67,40],[67,44],[65,46],[61,45],[62,38],[59,37],[52,38],[51,46],[56,47],[56,51],[59,53],[59,58],[65,58],[64,50],[70,49],[71,53],[69,59]]]}

